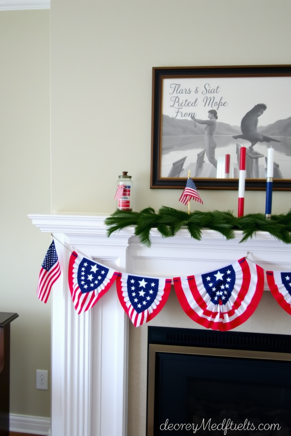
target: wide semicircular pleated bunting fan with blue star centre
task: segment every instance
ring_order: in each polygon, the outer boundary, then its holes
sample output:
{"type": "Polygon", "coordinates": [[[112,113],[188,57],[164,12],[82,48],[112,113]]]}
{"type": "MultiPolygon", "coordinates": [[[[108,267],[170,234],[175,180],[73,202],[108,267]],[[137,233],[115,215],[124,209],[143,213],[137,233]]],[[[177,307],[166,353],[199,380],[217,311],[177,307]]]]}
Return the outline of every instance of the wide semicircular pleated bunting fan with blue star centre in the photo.
{"type": "Polygon", "coordinates": [[[220,331],[243,324],[256,310],[264,290],[264,270],[246,258],[215,271],[173,280],[188,317],[220,331]]]}

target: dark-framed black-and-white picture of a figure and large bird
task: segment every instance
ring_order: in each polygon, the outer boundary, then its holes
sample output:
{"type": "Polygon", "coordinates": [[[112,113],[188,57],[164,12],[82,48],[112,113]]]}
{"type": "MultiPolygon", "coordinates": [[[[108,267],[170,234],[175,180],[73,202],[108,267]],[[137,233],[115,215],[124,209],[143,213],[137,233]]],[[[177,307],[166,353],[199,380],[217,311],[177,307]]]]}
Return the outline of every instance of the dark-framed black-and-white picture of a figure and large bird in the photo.
{"type": "Polygon", "coordinates": [[[154,67],[151,188],[291,190],[291,65],[154,67]]]}

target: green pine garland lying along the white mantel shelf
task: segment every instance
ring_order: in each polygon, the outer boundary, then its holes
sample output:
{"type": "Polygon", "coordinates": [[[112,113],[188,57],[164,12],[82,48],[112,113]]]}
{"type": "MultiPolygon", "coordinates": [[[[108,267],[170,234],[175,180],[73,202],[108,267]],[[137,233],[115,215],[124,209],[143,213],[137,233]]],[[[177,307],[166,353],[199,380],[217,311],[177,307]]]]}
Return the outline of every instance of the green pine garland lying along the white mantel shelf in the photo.
{"type": "Polygon", "coordinates": [[[248,214],[237,218],[231,211],[195,211],[188,214],[162,206],[158,212],[153,208],[146,208],[140,212],[117,210],[106,218],[105,224],[108,226],[108,236],[124,227],[134,225],[134,234],[146,247],[151,246],[152,228],[157,228],[163,238],[169,238],[175,236],[182,227],[187,227],[192,238],[197,240],[201,240],[203,228],[210,228],[221,233],[226,239],[234,238],[234,231],[241,230],[243,238],[240,242],[252,238],[256,232],[269,232],[279,241],[291,244],[291,210],[287,214],[272,215],[270,219],[266,219],[264,214],[248,214]]]}

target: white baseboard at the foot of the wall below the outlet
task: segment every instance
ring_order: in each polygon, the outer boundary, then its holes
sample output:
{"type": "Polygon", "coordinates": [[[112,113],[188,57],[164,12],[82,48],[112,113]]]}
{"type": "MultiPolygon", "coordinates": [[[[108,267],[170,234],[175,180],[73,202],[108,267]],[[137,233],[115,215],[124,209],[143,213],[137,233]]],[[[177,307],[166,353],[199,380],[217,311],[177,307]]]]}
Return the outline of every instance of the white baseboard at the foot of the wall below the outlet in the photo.
{"type": "Polygon", "coordinates": [[[51,435],[51,418],[10,413],[10,432],[51,435]]]}

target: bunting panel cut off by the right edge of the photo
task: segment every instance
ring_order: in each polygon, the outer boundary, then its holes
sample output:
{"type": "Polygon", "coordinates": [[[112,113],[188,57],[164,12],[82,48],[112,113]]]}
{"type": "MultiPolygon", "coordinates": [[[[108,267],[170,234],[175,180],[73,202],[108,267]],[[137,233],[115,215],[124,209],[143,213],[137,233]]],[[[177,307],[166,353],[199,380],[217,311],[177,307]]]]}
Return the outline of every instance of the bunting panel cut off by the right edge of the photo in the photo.
{"type": "Polygon", "coordinates": [[[291,272],[267,271],[266,274],[272,295],[291,315],[291,272]]]}

